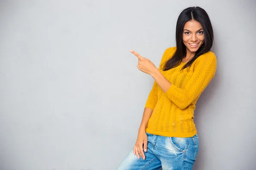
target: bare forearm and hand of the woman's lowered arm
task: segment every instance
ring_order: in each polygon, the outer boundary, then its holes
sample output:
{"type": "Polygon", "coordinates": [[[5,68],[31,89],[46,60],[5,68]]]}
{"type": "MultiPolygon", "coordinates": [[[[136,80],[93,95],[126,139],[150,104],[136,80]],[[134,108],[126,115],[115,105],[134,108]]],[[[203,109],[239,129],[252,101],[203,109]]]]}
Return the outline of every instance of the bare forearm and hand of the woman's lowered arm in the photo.
{"type": "Polygon", "coordinates": [[[148,148],[148,136],[145,130],[148,125],[148,120],[151,117],[152,113],[153,113],[153,110],[151,108],[144,109],[143,117],[140,123],[140,128],[137,136],[137,141],[133,150],[134,155],[136,154],[138,159],[140,159],[140,156],[141,156],[142,159],[145,160],[144,152],[146,152],[148,148]],[[143,152],[143,148],[144,148],[144,152],[143,152]]]}

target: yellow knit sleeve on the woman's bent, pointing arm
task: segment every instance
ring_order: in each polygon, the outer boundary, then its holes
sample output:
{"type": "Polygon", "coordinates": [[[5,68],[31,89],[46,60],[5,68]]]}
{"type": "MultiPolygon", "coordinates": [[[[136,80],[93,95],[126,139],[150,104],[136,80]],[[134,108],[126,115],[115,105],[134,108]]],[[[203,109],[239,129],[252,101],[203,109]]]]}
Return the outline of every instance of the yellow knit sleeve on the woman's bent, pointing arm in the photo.
{"type": "Polygon", "coordinates": [[[215,76],[217,59],[209,52],[195,60],[194,71],[184,88],[171,85],[165,95],[180,109],[188,107],[207,87],[215,76]]]}

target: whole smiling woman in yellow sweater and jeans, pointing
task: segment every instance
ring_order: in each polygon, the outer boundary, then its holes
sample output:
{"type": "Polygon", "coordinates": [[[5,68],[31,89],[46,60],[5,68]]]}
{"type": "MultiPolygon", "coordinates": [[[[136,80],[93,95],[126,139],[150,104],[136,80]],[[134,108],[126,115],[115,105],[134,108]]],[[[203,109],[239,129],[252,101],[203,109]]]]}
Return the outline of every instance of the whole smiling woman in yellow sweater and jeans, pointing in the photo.
{"type": "Polygon", "coordinates": [[[138,69],[154,78],[134,149],[117,170],[192,170],[198,153],[195,104],[215,75],[210,51],[213,30],[200,7],[184,9],[177,20],[176,45],[166,49],[157,69],[138,57],[138,69]]]}

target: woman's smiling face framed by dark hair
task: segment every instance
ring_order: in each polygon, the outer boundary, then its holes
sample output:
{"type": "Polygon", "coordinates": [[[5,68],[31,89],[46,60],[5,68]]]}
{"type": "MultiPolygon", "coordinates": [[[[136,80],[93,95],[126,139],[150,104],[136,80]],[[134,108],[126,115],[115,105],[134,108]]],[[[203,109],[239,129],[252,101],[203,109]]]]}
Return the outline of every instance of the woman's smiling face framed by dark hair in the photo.
{"type": "Polygon", "coordinates": [[[187,51],[195,53],[204,43],[204,30],[202,25],[195,20],[185,23],[183,34],[183,43],[186,45],[187,51]]]}

